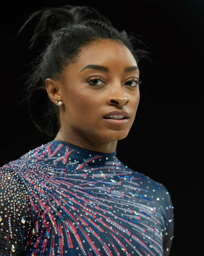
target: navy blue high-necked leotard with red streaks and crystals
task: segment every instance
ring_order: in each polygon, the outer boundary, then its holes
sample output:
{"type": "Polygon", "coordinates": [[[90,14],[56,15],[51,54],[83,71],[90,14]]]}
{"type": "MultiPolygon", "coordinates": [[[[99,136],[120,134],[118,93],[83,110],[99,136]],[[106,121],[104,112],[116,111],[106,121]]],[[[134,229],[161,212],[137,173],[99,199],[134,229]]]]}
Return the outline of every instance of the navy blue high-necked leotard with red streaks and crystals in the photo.
{"type": "Polygon", "coordinates": [[[162,256],[173,238],[165,186],[59,140],[0,168],[0,255],[162,256]]]}

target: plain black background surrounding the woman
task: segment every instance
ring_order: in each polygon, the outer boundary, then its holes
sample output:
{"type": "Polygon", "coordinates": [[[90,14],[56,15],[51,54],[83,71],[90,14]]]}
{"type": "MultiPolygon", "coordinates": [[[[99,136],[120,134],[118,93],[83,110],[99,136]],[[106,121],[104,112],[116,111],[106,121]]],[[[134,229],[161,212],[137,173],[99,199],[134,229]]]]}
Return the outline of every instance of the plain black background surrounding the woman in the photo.
{"type": "Polygon", "coordinates": [[[15,104],[21,83],[19,77],[27,71],[25,65],[31,61],[27,50],[29,33],[18,44],[15,35],[33,12],[66,4],[94,7],[119,30],[139,33],[159,63],[146,68],[136,120],[129,135],[118,141],[117,157],[166,186],[175,213],[171,256],[190,255],[192,247],[186,239],[194,238],[192,230],[198,226],[191,212],[195,197],[199,195],[195,176],[202,173],[202,165],[198,163],[203,148],[204,1],[4,3],[1,17],[1,166],[54,139],[40,133],[25,107],[15,104]]]}

